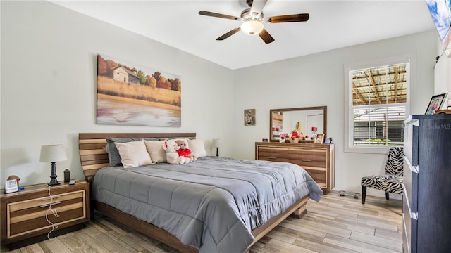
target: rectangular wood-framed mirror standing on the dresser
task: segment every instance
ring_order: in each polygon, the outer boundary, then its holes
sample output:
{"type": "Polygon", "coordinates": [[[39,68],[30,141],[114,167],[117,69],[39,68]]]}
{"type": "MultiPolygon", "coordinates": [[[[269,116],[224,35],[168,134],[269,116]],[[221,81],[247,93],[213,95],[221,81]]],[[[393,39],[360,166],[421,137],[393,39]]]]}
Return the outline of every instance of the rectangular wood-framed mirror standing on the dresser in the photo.
{"type": "Polygon", "coordinates": [[[290,134],[291,131],[300,129],[304,136],[309,136],[302,142],[313,143],[310,137],[314,135],[315,128],[316,134],[327,136],[327,106],[269,110],[270,141],[279,141],[280,133],[290,134]]]}

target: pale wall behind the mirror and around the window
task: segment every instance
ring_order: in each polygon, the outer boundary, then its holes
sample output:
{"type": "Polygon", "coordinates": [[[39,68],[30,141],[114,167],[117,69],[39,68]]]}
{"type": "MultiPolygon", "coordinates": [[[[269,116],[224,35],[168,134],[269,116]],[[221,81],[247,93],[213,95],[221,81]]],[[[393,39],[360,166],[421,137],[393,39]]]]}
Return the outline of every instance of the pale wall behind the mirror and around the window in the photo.
{"type": "MultiPolygon", "coordinates": [[[[413,54],[411,112],[424,114],[433,94],[435,31],[350,46],[235,70],[234,133],[240,145],[235,157],[254,158],[254,142],[268,138],[269,110],[327,105],[328,136],[336,145],[335,190],[360,192],[362,176],[383,174],[385,155],[343,152],[344,65],[413,54]],[[256,126],[243,126],[246,108],[256,109],[256,126]]],[[[371,195],[380,191],[369,190],[371,195]]]]}

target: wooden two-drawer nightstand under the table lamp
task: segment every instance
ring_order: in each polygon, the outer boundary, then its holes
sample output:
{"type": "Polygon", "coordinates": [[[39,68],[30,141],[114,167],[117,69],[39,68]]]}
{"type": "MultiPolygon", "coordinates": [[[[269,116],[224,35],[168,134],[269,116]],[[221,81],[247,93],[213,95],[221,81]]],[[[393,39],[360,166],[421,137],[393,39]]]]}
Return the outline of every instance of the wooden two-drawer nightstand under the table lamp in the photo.
{"type": "Polygon", "coordinates": [[[70,186],[61,182],[50,186],[50,194],[47,183],[25,186],[25,190],[16,193],[1,193],[1,245],[10,249],[23,247],[47,239],[51,223],[58,224],[49,235],[54,238],[82,228],[90,220],[89,183],[77,181],[70,186]],[[50,204],[59,217],[49,211],[50,204]]]}

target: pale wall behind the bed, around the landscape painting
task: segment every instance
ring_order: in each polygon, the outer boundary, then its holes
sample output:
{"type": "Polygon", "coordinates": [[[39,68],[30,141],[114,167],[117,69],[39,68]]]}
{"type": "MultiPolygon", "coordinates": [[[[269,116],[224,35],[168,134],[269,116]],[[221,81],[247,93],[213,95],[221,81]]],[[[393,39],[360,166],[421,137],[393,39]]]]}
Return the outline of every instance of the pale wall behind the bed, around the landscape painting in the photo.
{"type": "MultiPolygon", "coordinates": [[[[231,70],[183,51],[75,13],[47,1],[1,1],[1,174],[20,184],[49,182],[41,145],[61,143],[70,167],[84,179],[79,132],[191,132],[210,145],[228,144],[232,132],[231,70]],[[97,53],[179,74],[182,126],[99,125],[96,120],[97,53]],[[214,96],[221,94],[221,96],[214,96]]],[[[221,155],[230,155],[225,145],[221,155]]],[[[214,150],[211,150],[211,153],[214,150]]]]}

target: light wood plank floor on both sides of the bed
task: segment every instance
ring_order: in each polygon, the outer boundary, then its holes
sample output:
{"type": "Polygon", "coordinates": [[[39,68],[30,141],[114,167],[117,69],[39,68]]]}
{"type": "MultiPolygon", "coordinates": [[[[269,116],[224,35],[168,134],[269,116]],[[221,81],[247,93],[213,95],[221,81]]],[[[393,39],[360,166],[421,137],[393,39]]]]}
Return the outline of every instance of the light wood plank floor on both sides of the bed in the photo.
{"type": "MultiPolygon", "coordinates": [[[[252,247],[253,253],[402,252],[400,200],[332,192],[309,200],[302,219],[288,217],[252,247]]],[[[105,217],[96,216],[82,230],[34,245],[1,252],[178,252],[105,217]]],[[[230,252],[233,253],[233,252],[230,252]]]]}

